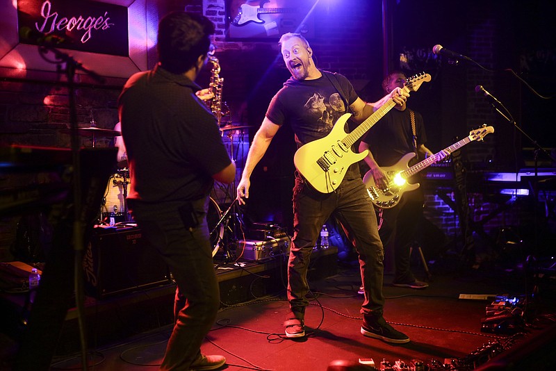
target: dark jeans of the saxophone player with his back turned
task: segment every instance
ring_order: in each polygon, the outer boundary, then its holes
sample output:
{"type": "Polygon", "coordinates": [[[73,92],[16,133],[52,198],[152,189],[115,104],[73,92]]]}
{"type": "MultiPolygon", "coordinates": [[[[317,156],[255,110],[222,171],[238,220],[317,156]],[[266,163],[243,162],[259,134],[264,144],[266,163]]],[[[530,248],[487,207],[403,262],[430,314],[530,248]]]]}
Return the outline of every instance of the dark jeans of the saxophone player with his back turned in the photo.
{"type": "Polygon", "coordinates": [[[214,324],[220,291],[213,265],[206,223],[208,198],[195,202],[199,226],[186,229],[177,207],[148,213],[133,211],[142,234],[163,256],[176,281],[175,323],[161,370],[188,370],[202,341],[214,324]]]}

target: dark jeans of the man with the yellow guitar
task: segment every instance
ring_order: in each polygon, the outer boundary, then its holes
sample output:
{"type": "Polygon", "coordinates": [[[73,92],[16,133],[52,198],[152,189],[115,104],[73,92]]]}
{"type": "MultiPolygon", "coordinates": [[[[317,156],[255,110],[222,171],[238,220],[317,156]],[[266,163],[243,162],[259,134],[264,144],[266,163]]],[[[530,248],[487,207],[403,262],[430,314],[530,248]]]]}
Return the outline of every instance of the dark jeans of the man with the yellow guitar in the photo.
{"type": "Polygon", "coordinates": [[[341,183],[336,192],[322,194],[295,178],[293,188],[293,240],[288,263],[288,300],[296,318],[303,319],[309,301],[307,269],[311,252],[322,224],[334,215],[359,254],[361,281],[365,299],[361,314],[379,317],[384,307],[382,295],[384,249],[380,242],[377,219],[361,179],[341,183]],[[372,313],[372,314],[371,314],[372,313]]]}

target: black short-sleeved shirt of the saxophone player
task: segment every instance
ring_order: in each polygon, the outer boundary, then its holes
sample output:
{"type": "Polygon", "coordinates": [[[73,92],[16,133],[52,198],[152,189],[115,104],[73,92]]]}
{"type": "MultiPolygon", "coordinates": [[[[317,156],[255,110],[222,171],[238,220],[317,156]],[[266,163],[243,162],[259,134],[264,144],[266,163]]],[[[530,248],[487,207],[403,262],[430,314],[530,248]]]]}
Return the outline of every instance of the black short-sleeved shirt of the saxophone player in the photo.
{"type": "Polygon", "coordinates": [[[207,197],[231,160],[199,86],[160,66],[134,74],[119,98],[129,158],[131,209],[175,207],[207,197]]]}

